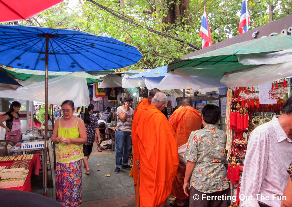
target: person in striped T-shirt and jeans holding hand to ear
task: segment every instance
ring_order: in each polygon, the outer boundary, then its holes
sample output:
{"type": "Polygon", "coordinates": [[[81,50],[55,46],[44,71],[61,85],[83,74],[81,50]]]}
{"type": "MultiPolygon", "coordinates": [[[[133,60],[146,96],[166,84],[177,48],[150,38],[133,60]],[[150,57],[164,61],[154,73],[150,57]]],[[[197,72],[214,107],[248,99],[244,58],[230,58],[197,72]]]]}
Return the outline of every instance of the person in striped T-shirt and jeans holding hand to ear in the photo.
{"type": "Polygon", "coordinates": [[[116,128],[116,167],[114,173],[119,173],[120,168],[131,169],[128,165],[132,149],[131,131],[134,110],[131,108],[133,98],[127,94],[124,97],[124,105],[117,108],[116,128]]]}

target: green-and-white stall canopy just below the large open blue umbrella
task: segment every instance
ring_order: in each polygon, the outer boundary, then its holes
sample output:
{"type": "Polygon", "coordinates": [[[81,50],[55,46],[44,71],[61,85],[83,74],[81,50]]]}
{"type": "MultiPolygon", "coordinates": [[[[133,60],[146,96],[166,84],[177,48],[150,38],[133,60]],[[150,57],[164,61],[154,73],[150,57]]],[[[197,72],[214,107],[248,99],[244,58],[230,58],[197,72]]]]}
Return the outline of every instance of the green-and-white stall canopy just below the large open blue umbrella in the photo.
{"type": "MultiPolygon", "coordinates": [[[[13,77],[15,77],[15,79],[19,79],[19,80],[26,80],[30,77],[33,77],[35,75],[38,76],[42,76],[43,78],[45,77],[45,71],[41,71],[41,70],[27,70],[27,69],[19,69],[19,68],[10,68],[10,67],[1,67],[0,66],[0,70],[5,70],[5,72],[10,73],[13,77]]],[[[54,77],[58,77],[61,75],[66,75],[72,72],[54,72],[54,71],[49,71],[48,72],[48,78],[54,78],[54,77]]],[[[86,75],[86,81],[87,83],[97,83],[97,82],[102,82],[101,79],[99,79],[96,76],[90,75],[88,73],[85,74],[86,75]]]]}

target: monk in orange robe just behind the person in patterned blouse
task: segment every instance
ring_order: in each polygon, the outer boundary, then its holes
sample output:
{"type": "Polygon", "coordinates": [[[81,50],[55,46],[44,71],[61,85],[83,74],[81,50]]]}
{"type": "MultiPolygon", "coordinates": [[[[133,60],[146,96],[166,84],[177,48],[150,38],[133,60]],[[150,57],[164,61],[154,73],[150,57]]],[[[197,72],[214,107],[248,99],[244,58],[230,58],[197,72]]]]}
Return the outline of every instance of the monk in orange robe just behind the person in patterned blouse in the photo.
{"type": "MultiPolygon", "coordinates": [[[[192,106],[192,101],[189,98],[184,98],[181,106],[169,118],[169,123],[175,131],[177,147],[187,143],[192,131],[201,129],[201,114],[192,106]]],[[[170,205],[184,206],[183,200],[188,198],[183,191],[184,178],[185,168],[179,166],[171,191],[171,194],[177,199],[171,201],[170,205]]]]}

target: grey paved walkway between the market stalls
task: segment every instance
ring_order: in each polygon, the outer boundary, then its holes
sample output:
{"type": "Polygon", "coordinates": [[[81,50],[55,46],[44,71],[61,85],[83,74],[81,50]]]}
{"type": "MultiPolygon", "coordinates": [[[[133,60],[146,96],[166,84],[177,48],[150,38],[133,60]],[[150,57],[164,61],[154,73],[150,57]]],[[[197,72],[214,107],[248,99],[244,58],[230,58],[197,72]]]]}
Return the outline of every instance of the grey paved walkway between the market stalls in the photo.
{"type": "MultiPolygon", "coordinates": [[[[84,174],[82,169],[82,201],[83,207],[107,206],[135,206],[135,192],[133,178],[129,177],[130,170],[121,169],[114,173],[115,153],[107,149],[97,152],[93,145],[88,160],[90,174],[84,174]],[[99,165],[98,165],[99,164],[99,165]],[[105,175],[110,174],[109,177],[105,175]]],[[[32,192],[42,195],[42,174],[36,176],[32,173],[32,192]]],[[[55,189],[52,186],[50,172],[48,171],[48,197],[55,199],[55,189]]]]}

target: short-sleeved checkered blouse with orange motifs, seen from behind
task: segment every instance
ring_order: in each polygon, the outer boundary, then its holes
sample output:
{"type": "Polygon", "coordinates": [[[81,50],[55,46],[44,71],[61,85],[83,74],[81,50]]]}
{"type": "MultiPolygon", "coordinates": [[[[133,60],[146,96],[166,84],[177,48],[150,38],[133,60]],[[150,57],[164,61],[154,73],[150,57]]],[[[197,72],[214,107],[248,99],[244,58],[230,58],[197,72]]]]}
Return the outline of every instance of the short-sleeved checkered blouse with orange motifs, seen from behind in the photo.
{"type": "Polygon", "coordinates": [[[226,160],[226,135],[215,125],[206,125],[190,135],[184,159],[196,162],[190,187],[203,193],[212,193],[229,188],[226,160]]]}

